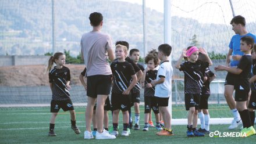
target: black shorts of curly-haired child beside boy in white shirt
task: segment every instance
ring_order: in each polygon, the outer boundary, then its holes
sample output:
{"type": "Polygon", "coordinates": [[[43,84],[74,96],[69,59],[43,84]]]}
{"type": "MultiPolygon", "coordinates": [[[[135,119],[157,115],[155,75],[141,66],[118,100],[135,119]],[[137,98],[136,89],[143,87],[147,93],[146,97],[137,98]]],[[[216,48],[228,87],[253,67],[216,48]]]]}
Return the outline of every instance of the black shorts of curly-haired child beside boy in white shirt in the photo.
{"type": "Polygon", "coordinates": [[[157,105],[157,98],[155,96],[145,96],[145,112],[150,113],[151,109],[154,111],[155,114],[159,113],[158,105],[157,105]]]}

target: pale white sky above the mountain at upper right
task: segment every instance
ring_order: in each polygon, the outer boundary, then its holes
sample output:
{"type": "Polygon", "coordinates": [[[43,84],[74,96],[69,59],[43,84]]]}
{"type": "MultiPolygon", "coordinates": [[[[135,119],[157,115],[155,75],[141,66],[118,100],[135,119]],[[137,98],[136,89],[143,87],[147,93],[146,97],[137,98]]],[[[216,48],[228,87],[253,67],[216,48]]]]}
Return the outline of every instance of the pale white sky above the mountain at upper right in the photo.
{"type": "MultiPolygon", "coordinates": [[[[143,0],[116,0],[142,5],[143,0]]],[[[164,0],[145,0],[146,7],[163,13],[164,0]]],[[[172,16],[190,17],[200,23],[229,24],[233,14],[229,0],[172,0],[172,16]]],[[[243,15],[247,22],[255,21],[256,2],[254,0],[233,0],[235,15],[243,15]],[[250,9],[250,10],[248,10],[250,9]]]]}

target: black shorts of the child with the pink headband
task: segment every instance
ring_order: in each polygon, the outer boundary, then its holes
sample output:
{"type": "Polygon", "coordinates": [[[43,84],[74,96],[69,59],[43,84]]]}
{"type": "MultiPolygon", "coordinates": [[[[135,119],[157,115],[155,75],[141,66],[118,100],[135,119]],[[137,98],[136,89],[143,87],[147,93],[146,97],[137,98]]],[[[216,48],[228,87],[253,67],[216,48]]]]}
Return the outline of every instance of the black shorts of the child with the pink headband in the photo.
{"type": "Polygon", "coordinates": [[[198,94],[185,93],[186,110],[189,110],[190,107],[195,107],[195,109],[198,110],[199,103],[200,103],[200,93],[198,94]]]}

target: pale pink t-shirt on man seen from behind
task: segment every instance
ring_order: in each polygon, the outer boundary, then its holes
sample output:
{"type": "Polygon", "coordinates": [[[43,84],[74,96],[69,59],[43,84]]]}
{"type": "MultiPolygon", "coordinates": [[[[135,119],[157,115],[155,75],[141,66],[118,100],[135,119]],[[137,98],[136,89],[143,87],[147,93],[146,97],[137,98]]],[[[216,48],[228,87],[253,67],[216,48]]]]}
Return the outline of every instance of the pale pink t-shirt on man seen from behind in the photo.
{"type": "Polygon", "coordinates": [[[100,31],[91,31],[81,38],[81,52],[87,67],[87,77],[91,75],[111,75],[107,49],[112,49],[111,37],[100,31]]]}

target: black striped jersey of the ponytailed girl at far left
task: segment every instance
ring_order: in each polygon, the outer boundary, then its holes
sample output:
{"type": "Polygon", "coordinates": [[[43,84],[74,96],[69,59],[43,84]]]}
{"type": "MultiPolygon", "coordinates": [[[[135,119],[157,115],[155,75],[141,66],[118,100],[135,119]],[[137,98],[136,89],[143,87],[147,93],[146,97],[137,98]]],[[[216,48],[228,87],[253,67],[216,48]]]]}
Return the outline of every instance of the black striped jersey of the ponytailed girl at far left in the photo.
{"type": "Polygon", "coordinates": [[[62,69],[52,69],[49,72],[49,82],[52,83],[52,100],[70,99],[69,89],[66,88],[67,81],[70,81],[70,70],[63,66],[62,69]]]}

